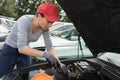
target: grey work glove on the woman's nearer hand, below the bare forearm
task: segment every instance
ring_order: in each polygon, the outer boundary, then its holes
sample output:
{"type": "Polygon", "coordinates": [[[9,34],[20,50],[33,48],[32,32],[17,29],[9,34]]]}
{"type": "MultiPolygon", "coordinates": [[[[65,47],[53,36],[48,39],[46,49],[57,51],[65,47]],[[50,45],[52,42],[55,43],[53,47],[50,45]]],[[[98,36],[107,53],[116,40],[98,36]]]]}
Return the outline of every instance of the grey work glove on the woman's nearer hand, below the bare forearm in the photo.
{"type": "Polygon", "coordinates": [[[56,67],[58,65],[58,60],[53,55],[49,54],[48,52],[44,52],[43,57],[45,57],[52,66],[56,67]]]}

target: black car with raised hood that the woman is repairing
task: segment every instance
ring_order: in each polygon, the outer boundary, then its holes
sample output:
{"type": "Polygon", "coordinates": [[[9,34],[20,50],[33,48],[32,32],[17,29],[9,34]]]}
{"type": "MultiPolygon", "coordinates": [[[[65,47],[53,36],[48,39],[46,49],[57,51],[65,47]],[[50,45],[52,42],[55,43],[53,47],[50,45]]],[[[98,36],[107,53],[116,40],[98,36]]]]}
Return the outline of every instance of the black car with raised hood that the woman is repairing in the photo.
{"type": "Polygon", "coordinates": [[[10,72],[6,79],[14,74],[13,80],[22,80],[26,73],[37,70],[32,78],[40,79],[40,73],[44,73],[56,80],[120,80],[120,1],[56,1],[75,25],[93,57],[61,60],[66,65],[63,67],[51,66],[49,62],[34,64],[10,72]]]}

